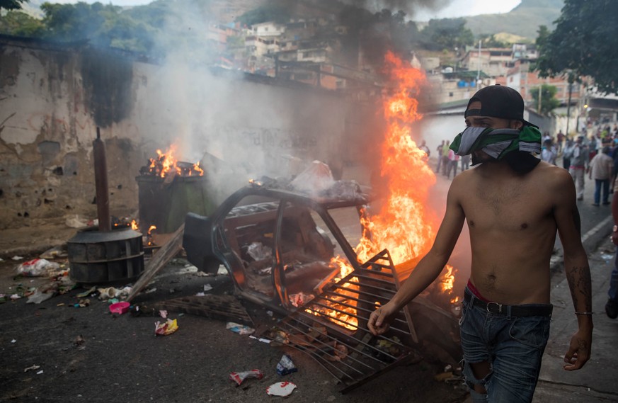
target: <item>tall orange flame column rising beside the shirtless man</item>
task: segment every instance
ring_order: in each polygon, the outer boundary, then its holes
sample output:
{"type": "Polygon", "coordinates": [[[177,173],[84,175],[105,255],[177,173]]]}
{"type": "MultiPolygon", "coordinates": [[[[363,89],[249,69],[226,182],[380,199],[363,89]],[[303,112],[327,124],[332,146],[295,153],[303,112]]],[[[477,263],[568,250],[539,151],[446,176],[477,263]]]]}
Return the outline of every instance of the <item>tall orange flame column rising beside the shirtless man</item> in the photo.
{"type": "Polygon", "coordinates": [[[427,205],[435,174],[427,165],[425,152],[414,140],[410,124],[422,118],[418,100],[425,74],[404,64],[392,52],[386,55],[392,96],[384,101],[387,133],[382,144],[380,174],[387,181],[389,197],[382,210],[362,220],[365,236],[356,247],[360,261],[367,261],[384,248],[397,265],[428,251],[435,235],[433,216],[427,205]]]}

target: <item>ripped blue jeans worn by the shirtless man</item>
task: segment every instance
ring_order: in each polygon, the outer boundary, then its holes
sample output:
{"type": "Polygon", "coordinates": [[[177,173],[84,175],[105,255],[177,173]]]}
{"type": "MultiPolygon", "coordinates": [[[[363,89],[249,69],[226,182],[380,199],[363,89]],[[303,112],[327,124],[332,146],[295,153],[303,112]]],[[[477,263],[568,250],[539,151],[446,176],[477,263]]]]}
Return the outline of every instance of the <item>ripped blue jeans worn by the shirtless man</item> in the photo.
{"type": "MultiPolygon", "coordinates": [[[[464,377],[473,402],[532,402],[551,317],[515,317],[493,314],[473,306],[474,295],[464,300],[459,330],[464,351],[464,377]],[[489,363],[488,375],[477,379],[471,363],[489,363]],[[487,394],[474,392],[474,385],[487,394]]],[[[539,307],[545,305],[521,305],[539,307]]]]}

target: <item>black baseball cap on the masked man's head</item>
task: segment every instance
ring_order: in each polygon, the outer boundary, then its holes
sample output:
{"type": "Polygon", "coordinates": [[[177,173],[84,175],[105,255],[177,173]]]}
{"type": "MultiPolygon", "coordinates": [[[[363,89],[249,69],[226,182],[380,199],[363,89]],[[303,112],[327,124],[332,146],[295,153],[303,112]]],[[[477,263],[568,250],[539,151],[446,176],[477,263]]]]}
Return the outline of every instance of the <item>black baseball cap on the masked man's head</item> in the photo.
{"type": "Polygon", "coordinates": [[[520,120],[525,126],[537,127],[524,120],[524,98],[508,86],[496,84],[486,86],[470,98],[464,116],[491,116],[492,118],[520,120]],[[481,103],[481,109],[469,109],[474,101],[481,103]]]}

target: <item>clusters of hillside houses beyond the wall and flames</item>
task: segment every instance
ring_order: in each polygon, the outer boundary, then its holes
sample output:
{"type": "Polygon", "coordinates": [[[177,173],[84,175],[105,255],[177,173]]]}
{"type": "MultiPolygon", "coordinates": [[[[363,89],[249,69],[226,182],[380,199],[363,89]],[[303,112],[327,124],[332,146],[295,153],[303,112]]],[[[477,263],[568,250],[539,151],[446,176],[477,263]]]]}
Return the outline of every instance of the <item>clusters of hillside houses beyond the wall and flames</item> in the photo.
{"type": "MultiPolygon", "coordinates": [[[[254,74],[299,81],[332,91],[376,93],[380,86],[376,66],[367,62],[363,44],[367,33],[355,38],[357,49],[350,50],[349,27],[338,25],[325,16],[303,18],[287,23],[265,22],[240,28],[219,29],[217,38],[227,37],[227,65],[254,74]],[[346,42],[348,40],[348,42],[346,42]],[[348,46],[348,48],[345,48],[348,46]],[[344,55],[345,50],[345,55],[344,55]]],[[[382,35],[386,30],[380,30],[382,35]]],[[[540,78],[534,72],[538,57],[534,45],[515,44],[511,47],[467,47],[454,65],[445,66],[442,55],[409,55],[413,65],[425,69],[431,93],[430,108],[467,101],[479,88],[490,84],[511,86],[522,93],[527,106],[535,111],[534,89],[550,84],[558,89],[556,97],[562,105],[571,99],[575,106],[583,97],[583,87],[569,85],[565,79],[540,78]]]]}

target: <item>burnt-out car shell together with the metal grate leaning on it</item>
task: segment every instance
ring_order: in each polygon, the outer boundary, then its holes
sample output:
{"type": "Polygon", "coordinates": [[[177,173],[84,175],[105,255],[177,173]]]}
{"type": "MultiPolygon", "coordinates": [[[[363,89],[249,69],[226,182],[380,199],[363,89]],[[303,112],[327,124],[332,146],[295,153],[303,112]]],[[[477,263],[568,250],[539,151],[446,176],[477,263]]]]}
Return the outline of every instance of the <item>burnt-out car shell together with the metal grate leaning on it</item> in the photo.
{"type": "Polygon", "coordinates": [[[387,334],[367,330],[370,313],[403,280],[387,250],[358,261],[352,245],[363,236],[369,203],[354,181],[313,192],[254,181],[209,217],[189,213],[183,247],[200,271],[224,266],[237,297],[282,315],[262,336],[314,358],[343,383],[341,392],[418,358],[427,341],[456,363],[457,317],[427,295],[404,307],[387,334]]]}

